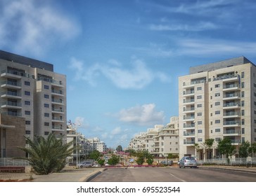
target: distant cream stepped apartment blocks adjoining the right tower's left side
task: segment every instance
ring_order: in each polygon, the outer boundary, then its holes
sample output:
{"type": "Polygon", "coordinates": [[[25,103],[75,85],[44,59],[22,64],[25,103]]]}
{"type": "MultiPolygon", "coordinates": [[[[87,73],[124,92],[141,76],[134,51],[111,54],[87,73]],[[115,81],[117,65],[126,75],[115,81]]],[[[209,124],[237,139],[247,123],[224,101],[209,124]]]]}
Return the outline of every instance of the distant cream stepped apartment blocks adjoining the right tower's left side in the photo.
{"type": "Polygon", "coordinates": [[[179,118],[170,118],[167,125],[155,125],[147,132],[137,134],[129,143],[129,149],[148,151],[155,157],[179,155],[179,118]]]}

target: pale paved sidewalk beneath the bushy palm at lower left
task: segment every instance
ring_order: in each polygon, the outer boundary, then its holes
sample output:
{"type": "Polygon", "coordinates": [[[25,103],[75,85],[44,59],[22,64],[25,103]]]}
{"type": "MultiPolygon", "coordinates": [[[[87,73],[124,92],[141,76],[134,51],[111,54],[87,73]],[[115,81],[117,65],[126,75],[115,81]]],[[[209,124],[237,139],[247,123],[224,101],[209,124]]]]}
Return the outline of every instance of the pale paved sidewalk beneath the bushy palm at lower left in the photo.
{"type": "Polygon", "coordinates": [[[62,172],[47,175],[36,175],[30,173],[30,168],[26,168],[25,173],[0,173],[1,181],[29,181],[29,182],[85,182],[90,178],[100,174],[105,168],[84,168],[75,169],[66,167],[62,172]]]}

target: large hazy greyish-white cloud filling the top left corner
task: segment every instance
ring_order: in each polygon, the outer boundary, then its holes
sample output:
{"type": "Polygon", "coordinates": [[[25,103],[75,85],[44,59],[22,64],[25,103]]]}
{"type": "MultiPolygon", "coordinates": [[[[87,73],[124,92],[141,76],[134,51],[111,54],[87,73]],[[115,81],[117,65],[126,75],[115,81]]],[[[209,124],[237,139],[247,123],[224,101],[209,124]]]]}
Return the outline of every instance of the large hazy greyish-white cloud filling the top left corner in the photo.
{"type": "Polygon", "coordinates": [[[39,55],[56,41],[68,41],[79,33],[77,22],[50,4],[4,0],[0,5],[0,47],[39,55]]]}

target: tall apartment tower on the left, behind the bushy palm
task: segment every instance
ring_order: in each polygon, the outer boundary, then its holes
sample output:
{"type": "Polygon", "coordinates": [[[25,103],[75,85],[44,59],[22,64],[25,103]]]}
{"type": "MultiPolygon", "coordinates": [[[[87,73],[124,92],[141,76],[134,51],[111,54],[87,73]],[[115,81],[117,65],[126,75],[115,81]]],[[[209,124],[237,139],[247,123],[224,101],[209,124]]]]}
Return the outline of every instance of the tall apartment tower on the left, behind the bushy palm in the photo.
{"type": "Polygon", "coordinates": [[[23,155],[16,146],[25,146],[24,135],[66,134],[65,75],[53,72],[53,64],[2,50],[0,71],[1,158],[23,155]]]}

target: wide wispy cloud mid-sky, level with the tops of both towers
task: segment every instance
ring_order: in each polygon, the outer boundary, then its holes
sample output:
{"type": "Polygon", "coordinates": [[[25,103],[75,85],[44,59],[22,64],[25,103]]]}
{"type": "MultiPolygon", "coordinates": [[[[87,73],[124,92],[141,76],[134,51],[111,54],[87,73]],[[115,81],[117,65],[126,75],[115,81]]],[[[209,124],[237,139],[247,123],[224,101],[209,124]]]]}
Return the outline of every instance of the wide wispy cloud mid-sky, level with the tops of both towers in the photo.
{"type": "Polygon", "coordinates": [[[106,64],[96,63],[85,68],[84,62],[75,58],[71,59],[70,68],[75,70],[76,80],[85,80],[90,85],[96,85],[98,77],[101,76],[105,76],[116,87],[122,89],[141,89],[153,80],[169,82],[169,77],[165,73],[152,71],[143,60],[136,58],[132,58],[129,69],[116,59],[111,59],[106,64]]]}

